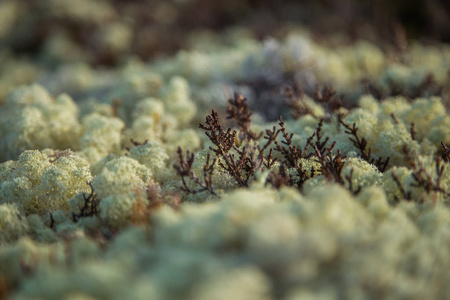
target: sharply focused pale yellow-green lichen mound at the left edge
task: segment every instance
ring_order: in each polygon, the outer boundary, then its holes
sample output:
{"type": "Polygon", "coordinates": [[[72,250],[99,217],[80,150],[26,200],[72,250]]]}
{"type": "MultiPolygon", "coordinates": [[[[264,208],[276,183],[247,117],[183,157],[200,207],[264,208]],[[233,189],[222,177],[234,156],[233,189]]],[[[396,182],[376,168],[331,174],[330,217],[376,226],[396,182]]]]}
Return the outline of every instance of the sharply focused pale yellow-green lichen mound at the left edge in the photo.
{"type": "Polygon", "coordinates": [[[50,160],[40,151],[27,150],[17,161],[1,164],[0,202],[17,205],[24,215],[68,211],[68,200],[89,190],[89,164],[71,153],[50,160]]]}

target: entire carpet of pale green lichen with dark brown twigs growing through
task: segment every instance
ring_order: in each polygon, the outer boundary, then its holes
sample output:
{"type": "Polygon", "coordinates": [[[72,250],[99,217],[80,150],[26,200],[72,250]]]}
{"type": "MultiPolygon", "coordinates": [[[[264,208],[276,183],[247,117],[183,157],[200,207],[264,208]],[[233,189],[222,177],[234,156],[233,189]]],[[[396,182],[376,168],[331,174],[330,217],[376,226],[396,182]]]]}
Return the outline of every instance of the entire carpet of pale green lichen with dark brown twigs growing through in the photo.
{"type": "MultiPolygon", "coordinates": [[[[113,13],[84,2],[50,13],[113,13]]],[[[0,53],[26,74],[0,73],[0,298],[448,297],[450,47],[222,39],[108,70],[0,53]]]]}

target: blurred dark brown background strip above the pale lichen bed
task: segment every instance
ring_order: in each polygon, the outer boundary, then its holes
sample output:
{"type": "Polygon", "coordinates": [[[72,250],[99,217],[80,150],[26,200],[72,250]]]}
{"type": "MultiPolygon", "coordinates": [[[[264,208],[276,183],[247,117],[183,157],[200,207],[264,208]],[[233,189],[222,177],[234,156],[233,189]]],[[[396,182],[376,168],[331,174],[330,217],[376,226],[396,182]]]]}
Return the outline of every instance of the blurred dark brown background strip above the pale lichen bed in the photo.
{"type": "Polygon", "coordinates": [[[402,40],[450,42],[447,0],[2,0],[0,51],[45,67],[76,60],[114,66],[189,48],[192,34],[243,26],[263,39],[292,26],[317,40],[339,34],[402,47],[402,40]]]}

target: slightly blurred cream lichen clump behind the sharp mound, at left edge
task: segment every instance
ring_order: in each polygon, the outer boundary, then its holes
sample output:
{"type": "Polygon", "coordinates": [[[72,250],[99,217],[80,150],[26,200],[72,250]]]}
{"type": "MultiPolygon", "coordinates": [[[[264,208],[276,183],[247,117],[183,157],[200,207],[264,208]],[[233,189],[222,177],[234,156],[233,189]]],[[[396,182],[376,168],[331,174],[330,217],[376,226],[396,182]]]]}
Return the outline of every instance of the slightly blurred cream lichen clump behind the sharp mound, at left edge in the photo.
{"type": "Polygon", "coordinates": [[[28,149],[78,148],[78,108],[68,95],[53,100],[39,85],[11,91],[0,111],[0,158],[16,159],[28,149]]]}

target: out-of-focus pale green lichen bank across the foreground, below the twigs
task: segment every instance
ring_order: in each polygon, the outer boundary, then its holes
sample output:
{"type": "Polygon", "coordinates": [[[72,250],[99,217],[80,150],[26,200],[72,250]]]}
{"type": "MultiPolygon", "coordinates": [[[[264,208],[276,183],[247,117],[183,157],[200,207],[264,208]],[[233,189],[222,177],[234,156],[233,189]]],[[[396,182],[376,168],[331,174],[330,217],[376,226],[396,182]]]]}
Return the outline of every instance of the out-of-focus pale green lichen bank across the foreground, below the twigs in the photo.
{"type": "Polygon", "coordinates": [[[123,230],[101,259],[85,238],[53,261],[50,248],[21,240],[20,247],[2,248],[0,261],[10,261],[0,271],[24,259],[42,266],[22,279],[17,299],[63,299],[74,290],[109,299],[141,299],[141,293],[158,299],[445,297],[448,208],[411,214],[408,206],[386,205],[376,186],[357,198],[336,185],[306,196],[292,188],[238,190],[220,202],[157,211],[151,232],[123,230]],[[69,257],[74,266],[64,265],[69,257]],[[430,276],[431,289],[417,287],[429,286],[430,276]],[[51,288],[55,280],[57,289],[51,288]],[[370,287],[363,288],[367,281],[370,287]]]}

